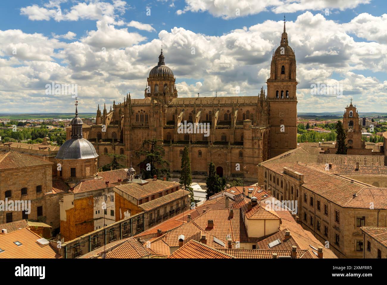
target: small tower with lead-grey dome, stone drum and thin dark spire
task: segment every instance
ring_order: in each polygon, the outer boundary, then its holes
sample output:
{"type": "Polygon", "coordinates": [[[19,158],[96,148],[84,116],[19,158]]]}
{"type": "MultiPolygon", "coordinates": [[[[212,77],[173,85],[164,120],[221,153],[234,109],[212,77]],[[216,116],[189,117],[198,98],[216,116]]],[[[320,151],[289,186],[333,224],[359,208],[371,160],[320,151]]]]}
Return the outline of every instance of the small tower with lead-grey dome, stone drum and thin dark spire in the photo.
{"type": "Polygon", "coordinates": [[[75,117],[71,121],[71,138],[60,147],[55,160],[58,177],[74,187],[81,180],[91,179],[98,173],[98,154],[91,142],[83,138],[83,122],[78,117],[78,101],[75,101],[75,117]]]}

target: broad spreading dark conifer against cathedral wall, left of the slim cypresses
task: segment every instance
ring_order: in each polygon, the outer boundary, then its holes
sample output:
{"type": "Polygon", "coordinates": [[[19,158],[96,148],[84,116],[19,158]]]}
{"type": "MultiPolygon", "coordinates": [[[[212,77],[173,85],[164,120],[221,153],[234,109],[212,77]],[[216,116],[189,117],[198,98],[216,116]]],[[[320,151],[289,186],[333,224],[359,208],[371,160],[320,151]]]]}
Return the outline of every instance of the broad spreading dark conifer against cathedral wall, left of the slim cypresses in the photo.
{"type": "Polygon", "coordinates": [[[170,176],[170,163],[163,159],[165,150],[163,147],[158,145],[159,140],[157,138],[151,138],[142,142],[141,150],[136,151],[135,155],[137,158],[145,157],[138,166],[143,167],[141,172],[143,173],[142,179],[152,178],[153,175],[157,175],[158,178],[166,175],[167,179],[170,176]],[[149,169],[149,170],[148,170],[149,169]]]}

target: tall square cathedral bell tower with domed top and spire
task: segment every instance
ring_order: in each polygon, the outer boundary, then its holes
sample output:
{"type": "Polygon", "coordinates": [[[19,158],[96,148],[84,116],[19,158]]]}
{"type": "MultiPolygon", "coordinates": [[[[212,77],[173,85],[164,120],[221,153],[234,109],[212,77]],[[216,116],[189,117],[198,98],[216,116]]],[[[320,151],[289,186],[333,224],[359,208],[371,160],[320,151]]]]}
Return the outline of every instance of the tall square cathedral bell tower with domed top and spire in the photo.
{"type": "Polygon", "coordinates": [[[270,154],[274,157],[297,147],[296,57],[288,44],[285,21],[266,84],[271,125],[270,154]]]}

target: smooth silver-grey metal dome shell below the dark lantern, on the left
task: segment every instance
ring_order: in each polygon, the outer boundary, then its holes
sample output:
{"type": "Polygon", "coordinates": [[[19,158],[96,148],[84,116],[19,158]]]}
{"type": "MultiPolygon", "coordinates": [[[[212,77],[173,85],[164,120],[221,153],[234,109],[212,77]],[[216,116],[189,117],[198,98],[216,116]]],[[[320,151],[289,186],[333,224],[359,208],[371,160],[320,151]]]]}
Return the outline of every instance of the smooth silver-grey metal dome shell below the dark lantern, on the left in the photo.
{"type": "Polygon", "coordinates": [[[91,142],[84,138],[71,138],[60,147],[56,159],[96,158],[98,154],[91,142]]]}

